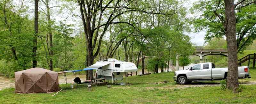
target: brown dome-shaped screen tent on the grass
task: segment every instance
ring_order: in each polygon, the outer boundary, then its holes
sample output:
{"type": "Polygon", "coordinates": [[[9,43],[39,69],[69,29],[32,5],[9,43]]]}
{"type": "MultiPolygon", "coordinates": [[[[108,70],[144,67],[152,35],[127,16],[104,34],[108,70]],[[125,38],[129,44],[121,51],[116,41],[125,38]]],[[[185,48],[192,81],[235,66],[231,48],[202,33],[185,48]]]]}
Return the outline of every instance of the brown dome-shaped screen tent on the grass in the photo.
{"type": "Polygon", "coordinates": [[[49,93],[59,91],[58,73],[43,68],[17,71],[15,93],[49,93]]]}

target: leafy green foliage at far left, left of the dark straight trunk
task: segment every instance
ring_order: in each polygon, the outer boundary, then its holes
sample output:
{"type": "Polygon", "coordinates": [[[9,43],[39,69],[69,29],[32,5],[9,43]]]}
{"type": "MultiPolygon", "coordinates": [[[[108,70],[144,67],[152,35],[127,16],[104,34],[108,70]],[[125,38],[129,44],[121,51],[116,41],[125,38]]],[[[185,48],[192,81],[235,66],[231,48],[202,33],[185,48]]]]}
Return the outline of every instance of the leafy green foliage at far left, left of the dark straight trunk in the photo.
{"type": "Polygon", "coordinates": [[[31,67],[34,31],[26,14],[26,5],[13,5],[12,0],[0,1],[0,74],[13,77],[13,72],[31,67]]]}

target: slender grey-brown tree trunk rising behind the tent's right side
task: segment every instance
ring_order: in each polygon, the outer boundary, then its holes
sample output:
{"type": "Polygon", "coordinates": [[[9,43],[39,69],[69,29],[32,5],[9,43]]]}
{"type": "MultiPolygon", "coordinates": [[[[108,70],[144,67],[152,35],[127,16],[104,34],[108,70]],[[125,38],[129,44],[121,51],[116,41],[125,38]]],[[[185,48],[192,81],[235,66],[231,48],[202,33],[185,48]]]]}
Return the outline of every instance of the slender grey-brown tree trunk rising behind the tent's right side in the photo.
{"type": "Polygon", "coordinates": [[[51,21],[51,14],[50,14],[50,7],[49,7],[49,0],[46,0],[46,9],[47,9],[47,21],[48,21],[48,35],[50,39],[50,48],[49,50],[49,56],[50,56],[50,63],[49,67],[50,70],[53,70],[53,44],[52,44],[52,21],[51,21]]]}

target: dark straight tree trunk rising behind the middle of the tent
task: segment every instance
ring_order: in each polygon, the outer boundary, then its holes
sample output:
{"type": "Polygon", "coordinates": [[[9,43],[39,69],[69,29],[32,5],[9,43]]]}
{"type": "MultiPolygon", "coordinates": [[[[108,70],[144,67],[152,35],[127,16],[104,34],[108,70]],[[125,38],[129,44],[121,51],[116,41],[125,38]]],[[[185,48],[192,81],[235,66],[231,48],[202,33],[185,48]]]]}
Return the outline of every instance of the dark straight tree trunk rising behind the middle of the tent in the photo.
{"type": "Polygon", "coordinates": [[[36,50],[37,50],[37,33],[38,33],[38,0],[35,0],[35,35],[33,39],[33,68],[37,67],[37,58],[36,58],[36,50]]]}

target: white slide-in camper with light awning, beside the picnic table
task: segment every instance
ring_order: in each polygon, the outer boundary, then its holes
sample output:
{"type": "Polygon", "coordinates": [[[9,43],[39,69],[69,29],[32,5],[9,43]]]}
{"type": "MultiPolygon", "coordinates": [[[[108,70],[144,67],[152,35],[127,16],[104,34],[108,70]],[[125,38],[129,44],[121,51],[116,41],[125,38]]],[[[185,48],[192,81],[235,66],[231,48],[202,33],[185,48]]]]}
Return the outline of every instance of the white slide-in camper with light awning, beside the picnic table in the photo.
{"type": "Polygon", "coordinates": [[[138,71],[134,63],[122,62],[113,58],[98,61],[87,68],[98,68],[96,69],[97,77],[107,80],[122,80],[126,72],[138,71]]]}

